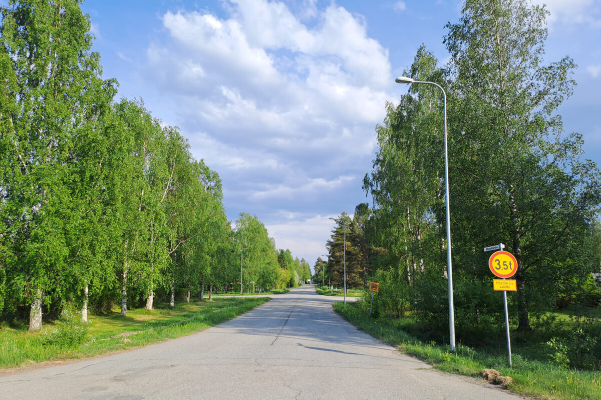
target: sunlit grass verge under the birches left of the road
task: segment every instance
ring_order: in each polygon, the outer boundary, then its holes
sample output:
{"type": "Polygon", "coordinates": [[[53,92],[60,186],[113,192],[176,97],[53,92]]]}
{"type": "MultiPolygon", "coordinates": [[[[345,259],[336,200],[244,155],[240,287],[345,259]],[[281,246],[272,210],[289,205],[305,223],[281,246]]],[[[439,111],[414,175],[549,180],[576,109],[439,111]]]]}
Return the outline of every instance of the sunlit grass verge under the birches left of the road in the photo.
{"type": "Polygon", "coordinates": [[[0,330],[0,368],[97,356],[178,338],[236,318],[269,300],[269,297],[215,299],[177,303],[174,309],[162,308],[162,305],[152,311],[132,309],[127,311],[127,317],[121,317],[117,311],[91,315],[87,341],[75,345],[44,344],[43,338],[53,329],[52,323],[35,333],[3,328],[0,330]]]}

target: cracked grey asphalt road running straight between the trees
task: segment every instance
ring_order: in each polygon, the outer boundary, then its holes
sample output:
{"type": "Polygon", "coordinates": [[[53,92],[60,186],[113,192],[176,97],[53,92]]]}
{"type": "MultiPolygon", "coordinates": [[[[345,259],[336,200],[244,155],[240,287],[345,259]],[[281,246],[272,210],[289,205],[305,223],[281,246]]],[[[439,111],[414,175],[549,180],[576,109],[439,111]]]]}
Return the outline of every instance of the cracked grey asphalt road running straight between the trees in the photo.
{"type": "Polygon", "coordinates": [[[341,300],[305,285],[194,335],[0,376],[0,399],[519,399],[371,338],[341,300]]]}

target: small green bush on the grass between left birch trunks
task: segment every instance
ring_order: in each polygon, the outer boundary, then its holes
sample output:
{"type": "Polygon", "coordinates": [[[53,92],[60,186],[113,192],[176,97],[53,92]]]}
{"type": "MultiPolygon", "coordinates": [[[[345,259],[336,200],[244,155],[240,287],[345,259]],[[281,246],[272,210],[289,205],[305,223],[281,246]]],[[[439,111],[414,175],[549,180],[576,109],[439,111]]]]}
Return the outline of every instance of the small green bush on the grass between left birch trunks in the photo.
{"type": "Polygon", "coordinates": [[[54,329],[40,335],[40,342],[44,346],[75,347],[85,342],[89,328],[90,323],[82,321],[78,312],[65,308],[54,329]]]}

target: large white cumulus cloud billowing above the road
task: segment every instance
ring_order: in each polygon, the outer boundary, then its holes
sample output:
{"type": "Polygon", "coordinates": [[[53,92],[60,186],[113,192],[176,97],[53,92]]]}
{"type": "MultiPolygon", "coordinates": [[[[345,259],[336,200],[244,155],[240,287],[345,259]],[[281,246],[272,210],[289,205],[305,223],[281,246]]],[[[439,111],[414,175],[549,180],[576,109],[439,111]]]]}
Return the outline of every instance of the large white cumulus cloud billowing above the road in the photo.
{"type": "Polygon", "coordinates": [[[374,127],[394,98],[388,50],[334,3],[221,5],[225,16],[162,16],[167,36],[147,49],[148,79],[174,99],[192,153],[222,176],[226,206],[244,207],[235,213],[279,226],[286,219],[274,210],[340,212],[328,199],[360,190],[374,127]]]}

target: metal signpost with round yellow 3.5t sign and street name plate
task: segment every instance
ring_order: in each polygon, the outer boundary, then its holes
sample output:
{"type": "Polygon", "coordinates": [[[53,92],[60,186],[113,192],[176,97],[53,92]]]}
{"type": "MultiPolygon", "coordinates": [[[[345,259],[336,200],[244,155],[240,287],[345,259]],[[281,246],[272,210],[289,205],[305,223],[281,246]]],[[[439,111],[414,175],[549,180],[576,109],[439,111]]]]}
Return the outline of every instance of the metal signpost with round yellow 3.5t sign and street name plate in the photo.
{"type": "Polygon", "coordinates": [[[503,305],[505,308],[505,333],[507,333],[507,355],[509,356],[509,366],[511,366],[511,341],[509,338],[509,312],[507,311],[507,291],[517,291],[517,283],[511,278],[517,272],[517,260],[508,251],[503,251],[505,245],[499,243],[496,246],[485,247],[484,251],[492,251],[489,258],[490,272],[502,279],[493,279],[493,290],[503,292],[503,305]]]}

